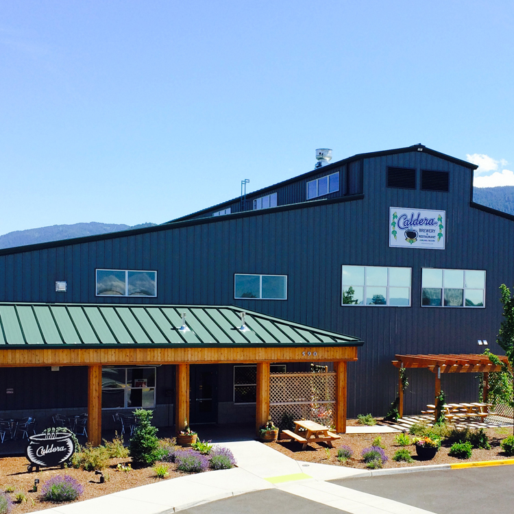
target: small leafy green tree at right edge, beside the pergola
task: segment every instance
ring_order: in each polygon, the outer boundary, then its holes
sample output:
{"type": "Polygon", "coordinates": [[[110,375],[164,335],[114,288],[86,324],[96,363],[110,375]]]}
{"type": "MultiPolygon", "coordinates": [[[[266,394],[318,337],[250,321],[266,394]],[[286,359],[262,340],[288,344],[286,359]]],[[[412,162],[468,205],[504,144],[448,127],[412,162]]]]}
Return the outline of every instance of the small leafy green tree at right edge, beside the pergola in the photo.
{"type": "MultiPolygon", "coordinates": [[[[489,356],[491,363],[502,366],[502,373],[509,377],[514,389],[514,297],[511,296],[511,290],[505,284],[500,286],[500,291],[500,302],[503,304],[502,316],[504,317],[504,320],[500,324],[500,330],[498,330],[496,342],[500,345],[502,350],[504,350],[509,364],[506,365],[503,363],[502,360],[500,360],[498,356],[492,354],[489,349],[485,351],[485,354],[489,356]]],[[[510,394],[511,391],[504,389],[503,393],[504,397],[502,400],[514,409],[514,396],[510,394]]]]}

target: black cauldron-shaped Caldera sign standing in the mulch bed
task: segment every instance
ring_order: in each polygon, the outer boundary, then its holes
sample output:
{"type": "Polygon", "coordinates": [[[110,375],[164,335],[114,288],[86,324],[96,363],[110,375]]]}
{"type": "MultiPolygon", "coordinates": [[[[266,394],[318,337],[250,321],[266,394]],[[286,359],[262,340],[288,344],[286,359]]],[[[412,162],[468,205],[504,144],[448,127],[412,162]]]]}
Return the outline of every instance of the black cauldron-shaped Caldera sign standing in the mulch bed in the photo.
{"type": "Polygon", "coordinates": [[[32,464],[58,466],[66,462],[75,452],[75,443],[70,432],[49,432],[29,437],[25,454],[32,464]]]}

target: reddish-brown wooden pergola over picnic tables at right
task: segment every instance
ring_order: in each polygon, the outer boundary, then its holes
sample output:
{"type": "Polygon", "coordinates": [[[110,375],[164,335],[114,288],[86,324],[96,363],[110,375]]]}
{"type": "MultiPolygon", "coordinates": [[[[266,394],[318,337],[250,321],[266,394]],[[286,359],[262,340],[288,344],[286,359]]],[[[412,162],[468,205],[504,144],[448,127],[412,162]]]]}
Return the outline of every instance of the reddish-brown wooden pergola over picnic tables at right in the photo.
{"type": "MultiPolygon", "coordinates": [[[[507,364],[509,360],[505,355],[498,356],[502,363],[507,364]]],[[[435,397],[441,393],[441,373],[483,373],[484,374],[484,397],[487,397],[489,390],[489,373],[502,371],[500,365],[494,365],[487,355],[483,354],[420,354],[420,355],[395,355],[392,361],[398,371],[398,413],[404,415],[404,391],[402,388],[402,368],[424,368],[430,369],[435,374],[435,397]]]]}

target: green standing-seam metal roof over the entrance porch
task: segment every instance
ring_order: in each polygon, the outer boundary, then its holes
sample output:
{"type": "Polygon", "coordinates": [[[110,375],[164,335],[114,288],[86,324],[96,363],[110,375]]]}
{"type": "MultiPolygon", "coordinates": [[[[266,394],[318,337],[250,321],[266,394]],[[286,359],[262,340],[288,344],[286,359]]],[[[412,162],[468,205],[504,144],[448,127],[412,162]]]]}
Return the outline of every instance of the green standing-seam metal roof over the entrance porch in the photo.
{"type": "Polygon", "coordinates": [[[0,303],[0,329],[0,348],[363,345],[356,337],[234,306],[0,303]],[[181,330],[182,313],[188,330],[181,330]]]}

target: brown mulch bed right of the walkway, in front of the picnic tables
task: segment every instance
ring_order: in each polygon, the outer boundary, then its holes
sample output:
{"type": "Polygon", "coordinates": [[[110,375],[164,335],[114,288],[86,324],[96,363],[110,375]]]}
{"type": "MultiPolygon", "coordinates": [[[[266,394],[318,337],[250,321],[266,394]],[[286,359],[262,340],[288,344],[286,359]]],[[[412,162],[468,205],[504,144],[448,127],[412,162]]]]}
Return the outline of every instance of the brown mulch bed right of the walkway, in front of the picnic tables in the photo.
{"type": "MultiPolygon", "coordinates": [[[[302,445],[296,441],[277,441],[276,443],[265,443],[273,450],[294,458],[296,461],[313,462],[319,464],[330,464],[330,465],[341,465],[347,467],[354,467],[358,469],[366,469],[366,465],[360,458],[360,452],[364,448],[369,448],[373,440],[380,436],[382,439],[382,446],[384,446],[385,454],[389,457],[384,468],[395,468],[395,467],[413,467],[413,466],[426,466],[431,464],[456,464],[462,462],[478,462],[478,461],[496,461],[507,457],[502,453],[500,448],[500,441],[509,435],[512,435],[512,428],[487,428],[485,430],[487,437],[489,437],[489,443],[491,444],[491,450],[473,450],[472,458],[468,461],[462,459],[450,457],[448,452],[450,451],[450,445],[443,445],[437,452],[435,458],[430,461],[421,461],[416,455],[416,449],[414,445],[410,446],[399,446],[395,445],[394,439],[396,433],[389,434],[344,434],[341,435],[341,439],[334,441],[334,448],[328,448],[326,443],[310,443],[306,450],[302,451],[302,445]],[[337,448],[342,445],[347,445],[352,448],[354,455],[349,458],[345,463],[341,463],[337,460],[337,448]],[[393,461],[393,455],[400,448],[407,448],[411,452],[414,459],[413,463],[406,462],[395,462],[393,461]]],[[[411,436],[412,439],[413,436],[411,436]]]]}

